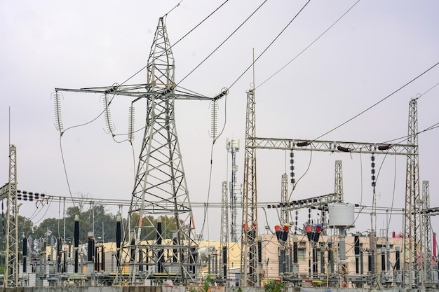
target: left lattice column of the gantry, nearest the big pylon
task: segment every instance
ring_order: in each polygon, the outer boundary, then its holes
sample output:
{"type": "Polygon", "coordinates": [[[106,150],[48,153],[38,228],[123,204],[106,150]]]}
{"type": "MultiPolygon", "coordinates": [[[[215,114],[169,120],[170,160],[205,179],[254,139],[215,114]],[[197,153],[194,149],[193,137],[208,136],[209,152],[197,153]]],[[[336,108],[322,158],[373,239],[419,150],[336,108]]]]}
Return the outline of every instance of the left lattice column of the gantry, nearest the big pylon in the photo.
{"type": "Polygon", "coordinates": [[[255,90],[247,91],[245,120],[243,226],[241,228],[241,286],[257,286],[257,190],[255,90]]]}

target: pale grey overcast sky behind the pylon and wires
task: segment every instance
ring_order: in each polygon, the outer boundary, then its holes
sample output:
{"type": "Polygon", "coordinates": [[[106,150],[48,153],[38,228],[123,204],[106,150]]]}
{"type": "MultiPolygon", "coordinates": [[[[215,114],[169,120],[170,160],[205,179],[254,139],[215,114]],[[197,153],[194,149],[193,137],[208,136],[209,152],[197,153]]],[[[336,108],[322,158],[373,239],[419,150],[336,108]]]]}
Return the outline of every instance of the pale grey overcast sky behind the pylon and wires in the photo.
{"type": "MultiPolygon", "coordinates": [[[[419,131],[439,122],[439,65],[433,67],[439,62],[438,1],[306,3],[1,0],[0,178],[8,182],[9,144],[14,144],[19,190],[130,200],[144,104],[136,105],[139,132],[132,147],[123,136],[130,98],[112,102],[117,134],[112,137],[100,116],[100,95],[63,92],[65,132],[60,137],[52,94],[55,88],[107,86],[128,78],[132,84],[145,83],[146,71],[140,69],[147,64],[158,18],[167,13],[170,43],[178,41],[173,54],[179,86],[209,97],[229,88],[227,98],[219,101],[217,127],[224,130],[213,145],[212,164],[209,102],[175,102],[194,206],[221,202],[222,181],[231,176],[227,139],[241,141],[236,162],[238,185],[243,183],[246,91],[252,86],[257,137],[372,143],[398,139],[405,144],[400,138],[407,136],[409,102],[417,96],[419,131]],[[247,70],[253,59],[255,66],[247,70]]],[[[438,131],[419,134],[419,184],[429,181],[431,207],[439,206],[438,131]]],[[[280,202],[281,176],[290,173],[289,151],[257,150],[256,156],[257,201],[280,202]]],[[[349,153],[296,151],[297,186],[291,199],[333,193],[335,160],[343,163],[345,202],[371,206],[370,155],[349,153]]],[[[402,209],[405,156],[377,155],[378,168],[377,206],[402,209]]],[[[38,208],[22,202],[20,215],[37,225],[47,217],[62,218],[64,207],[57,200],[38,208]]],[[[126,206],[108,210],[128,214],[126,206]]],[[[219,240],[220,209],[193,211],[196,232],[219,240]]],[[[258,214],[261,233],[279,223],[276,210],[259,208],[258,214]]],[[[299,226],[306,216],[307,210],[301,211],[299,226]]],[[[318,211],[312,218],[319,220],[318,211]]],[[[431,220],[434,230],[438,219],[431,220]]],[[[370,211],[363,210],[350,232],[370,230],[370,221],[370,211]]],[[[381,232],[389,225],[389,232],[400,232],[402,222],[400,211],[388,211],[377,215],[374,229],[381,232]]]]}

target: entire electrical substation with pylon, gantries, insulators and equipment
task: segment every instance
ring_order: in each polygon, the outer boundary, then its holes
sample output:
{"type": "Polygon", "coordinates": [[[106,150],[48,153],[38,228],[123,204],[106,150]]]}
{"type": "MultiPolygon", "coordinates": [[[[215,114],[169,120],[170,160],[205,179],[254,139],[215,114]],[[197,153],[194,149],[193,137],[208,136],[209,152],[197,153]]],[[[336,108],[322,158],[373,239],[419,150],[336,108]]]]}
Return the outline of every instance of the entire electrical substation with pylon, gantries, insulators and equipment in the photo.
{"type": "MultiPolygon", "coordinates": [[[[194,94],[196,89],[179,88],[165,20],[158,20],[146,67],[147,83],[55,88],[52,95],[60,135],[63,133],[62,92],[103,95],[109,132],[112,132],[109,118],[112,100],[119,96],[129,97],[132,99],[130,141],[134,137],[133,104],[147,100],[131,200],[117,202],[126,204],[129,209],[127,214],[119,214],[114,222],[116,242],[104,242],[92,231],[82,230],[77,218],[72,241],[65,237],[20,238],[17,217],[21,202],[44,202],[50,195],[18,190],[17,157],[20,152],[11,144],[9,178],[0,189],[6,240],[6,249],[1,254],[5,259],[4,275],[0,278],[2,286],[200,287],[208,279],[211,286],[235,289],[264,288],[271,281],[282,283],[290,289],[288,291],[304,288],[316,288],[316,291],[339,291],[340,288],[346,291],[436,291],[439,288],[437,242],[430,221],[439,209],[430,206],[428,181],[419,180],[416,97],[409,104],[405,144],[281,139],[257,136],[256,90],[250,88],[245,92],[246,109],[242,113],[245,114],[245,141],[241,146],[240,141],[227,139],[225,150],[230,155],[231,176],[230,181],[222,183],[219,242],[198,238],[175,127],[175,101],[209,102],[212,111],[210,135],[216,139],[217,102],[227,97],[229,90],[222,88],[217,95],[205,97],[194,94]],[[275,204],[257,200],[256,156],[263,151],[289,153],[290,173],[279,178],[281,193],[279,200],[273,199],[275,204]],[[382,235],[377,232],[374,216],[385,211],[374,202],[369,210],[370,230],[348,235],[346,231],[356,225],[358,210],[365,207],[344,199],[342,160],[335,160],[333,193],[291,200],[288,188],[296,182],[295,155],[304,151],[346,153],[346,158],[347,155],[370,155],[370,184],[374,193],[377,183],[375,158],[379,155],[405,157],[403,232],[391,237],[387,235],[389,230],[382,235]],[[236,162],[237,153],[244,155],[242,167],[236,162]],[[238,169],[243,173],[243,183],[237,180],[238,169]],[[273,232],[264,234],[262,231],[264,221],[258,214],[261,208],[280,214],[276,226],[266,227],[273,232]],[[312,218],[311,209],[320,212],[318,220],[312,218]],[[308,212],[305,222],[299,221],[299,211],[308,212]],[[162,218],[173,218],[173,224],[167,224],[162,218]],[[87,232],[87,242],[79,242],[79,232],[87,232]],[[19,252],[19,246],[22,252],[19,252]],[[323,288],[325,290],[321,290],[323,288]]],[[[61,201],[60,197],[58,199],[61,201]]]]}

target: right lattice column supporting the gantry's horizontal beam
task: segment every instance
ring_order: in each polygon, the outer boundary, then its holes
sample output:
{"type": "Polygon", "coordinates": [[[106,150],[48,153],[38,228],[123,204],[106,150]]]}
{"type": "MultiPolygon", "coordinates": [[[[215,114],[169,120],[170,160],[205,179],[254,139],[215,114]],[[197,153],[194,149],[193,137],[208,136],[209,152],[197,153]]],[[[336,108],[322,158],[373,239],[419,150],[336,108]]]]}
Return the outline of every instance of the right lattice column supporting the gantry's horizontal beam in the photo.
{"type": "Polygon", "coordinates": [[[424,285],[424,265],[421,263],[424,258],[421,237],[422,201],[419,192],[417,97],[410,100],[407,137],[407,144],[413,147],[410,148],[412,155],[407,155],[405,176],[404,281],[409,287],[419,287],[424,285]]]}

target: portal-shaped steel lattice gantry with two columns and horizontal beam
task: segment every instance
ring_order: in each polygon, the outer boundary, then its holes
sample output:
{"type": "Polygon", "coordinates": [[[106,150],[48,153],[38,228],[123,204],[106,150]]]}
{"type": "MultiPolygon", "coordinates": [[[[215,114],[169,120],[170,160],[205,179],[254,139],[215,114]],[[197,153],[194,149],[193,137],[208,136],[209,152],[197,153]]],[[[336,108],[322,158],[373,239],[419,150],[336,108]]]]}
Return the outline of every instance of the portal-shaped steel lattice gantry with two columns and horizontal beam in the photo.
{"type": "MultiPolygon", "coordinates": [[[[245,123],[245,158],[243,191],[243,229],[241,285],[256,286],[261,268],[257,263],[257,185],[256,149],[289,151],[319,151],[330,153],[360,153],[405,155],[407,173],[404,223],[404,284],[424,286],[424,261],[421,237],[421,197],[419,195],[419,153],[417,140],[417,98],[410,100],[407,144],[377,144],[346,141],[316,141],[309,139],[273,139],[256,136],[255,90],[247,91],[245,123]]],[[[372,161],[372,163],[374,163],[372,161]]],[[[374,186],[374,173],[372,174],[374,186]]]]}

